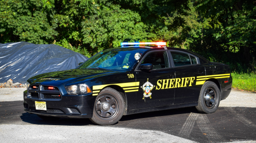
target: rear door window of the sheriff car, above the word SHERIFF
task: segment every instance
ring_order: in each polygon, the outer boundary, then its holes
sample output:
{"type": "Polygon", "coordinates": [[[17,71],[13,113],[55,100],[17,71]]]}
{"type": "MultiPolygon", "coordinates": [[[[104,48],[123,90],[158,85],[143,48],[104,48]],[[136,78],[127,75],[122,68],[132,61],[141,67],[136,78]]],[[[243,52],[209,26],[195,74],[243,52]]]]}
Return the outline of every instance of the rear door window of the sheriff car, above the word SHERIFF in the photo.
{"type": "Polygon", "coordinates": [[[188,54],[180,52],[170,52],[173,56],[175,66],[185,66],[191,65],[190,58],[188,54]]]}

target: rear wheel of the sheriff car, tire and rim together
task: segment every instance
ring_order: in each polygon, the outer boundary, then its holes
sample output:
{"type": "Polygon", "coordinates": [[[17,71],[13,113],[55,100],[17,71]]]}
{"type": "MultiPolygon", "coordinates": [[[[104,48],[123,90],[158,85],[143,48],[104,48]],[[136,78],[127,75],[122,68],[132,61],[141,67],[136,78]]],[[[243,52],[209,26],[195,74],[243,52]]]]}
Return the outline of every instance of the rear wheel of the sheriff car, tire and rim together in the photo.
{"type": "Polygon", "coordinates": [[[220,89],[212,81],[204,82],[198,99],[197,110],[201,113],[214,113],[220,105],[220,89]]]}

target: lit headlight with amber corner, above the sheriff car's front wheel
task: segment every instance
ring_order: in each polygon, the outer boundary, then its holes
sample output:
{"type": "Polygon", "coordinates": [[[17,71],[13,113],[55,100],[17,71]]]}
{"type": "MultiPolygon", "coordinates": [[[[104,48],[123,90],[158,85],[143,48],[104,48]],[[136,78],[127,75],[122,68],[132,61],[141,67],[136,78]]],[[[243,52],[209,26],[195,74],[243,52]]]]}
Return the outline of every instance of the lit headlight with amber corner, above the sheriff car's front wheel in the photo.
{"type": "Polygon", "coordinates": [[[71,85],[69,87],[65,87],[66,91],[70,95],[76,95],[76,94],[87,94],[91,93],[91,89],[88,87],[87,84],[77,84],[77,85],[71,85]]]}

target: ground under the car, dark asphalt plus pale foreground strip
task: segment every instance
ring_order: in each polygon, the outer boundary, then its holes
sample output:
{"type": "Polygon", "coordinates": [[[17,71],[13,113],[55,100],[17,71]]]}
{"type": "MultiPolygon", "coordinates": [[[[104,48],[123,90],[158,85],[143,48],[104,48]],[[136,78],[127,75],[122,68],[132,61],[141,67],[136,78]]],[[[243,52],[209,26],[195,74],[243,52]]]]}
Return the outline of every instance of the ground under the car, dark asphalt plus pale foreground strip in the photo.
{"type": "Polygon", "coordinates": [[[255,107],[195,107],[123,116],[112,126],[89,119],[44,121],[24,112],[23,101],[0,102],[0,142],[255,142],[255,107]]]}

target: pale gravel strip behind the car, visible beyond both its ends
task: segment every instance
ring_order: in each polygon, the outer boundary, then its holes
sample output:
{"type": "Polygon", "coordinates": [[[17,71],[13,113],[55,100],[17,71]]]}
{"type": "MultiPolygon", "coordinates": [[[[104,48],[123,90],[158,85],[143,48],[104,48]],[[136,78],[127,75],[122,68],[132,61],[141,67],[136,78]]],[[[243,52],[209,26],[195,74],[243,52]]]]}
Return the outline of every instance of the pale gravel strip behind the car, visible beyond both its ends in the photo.
{"type": "MultiPolygon", "coordinates": [[[[22,101],[26,88],[1,88],[1,101],[22,101]]],[[[232,89],[229,96],[222,100],[220,107],[256,107],[256,93],[236,91],[232,89]]]]}

